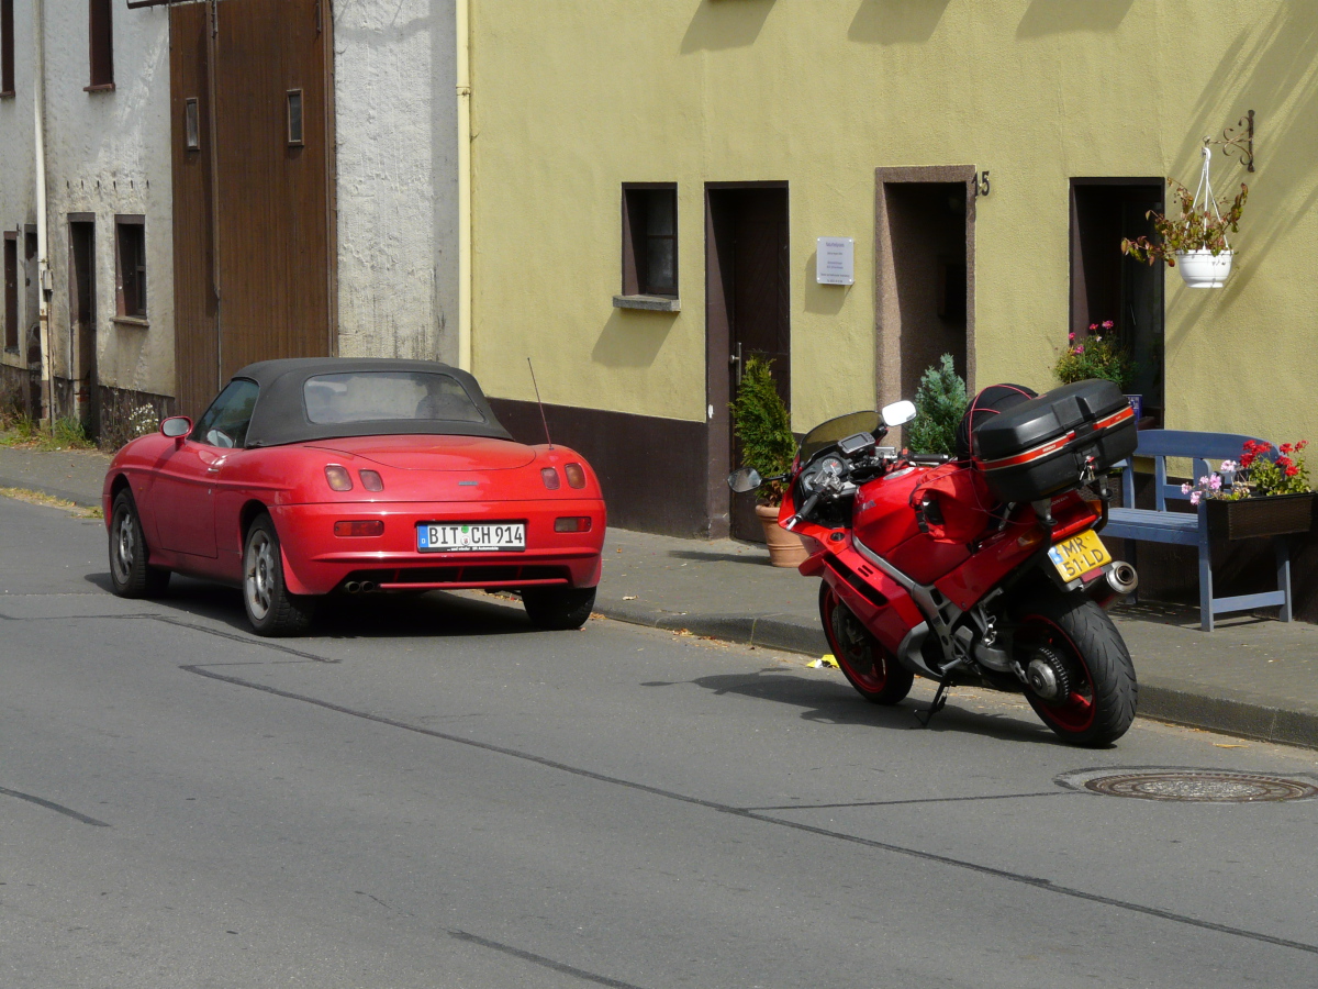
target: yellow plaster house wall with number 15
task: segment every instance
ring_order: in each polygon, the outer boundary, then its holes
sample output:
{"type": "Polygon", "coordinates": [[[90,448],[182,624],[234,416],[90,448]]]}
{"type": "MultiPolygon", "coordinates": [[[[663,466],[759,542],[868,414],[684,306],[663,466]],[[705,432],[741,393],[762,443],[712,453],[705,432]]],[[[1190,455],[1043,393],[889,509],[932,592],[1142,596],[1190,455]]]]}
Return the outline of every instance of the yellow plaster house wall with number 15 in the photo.
{"type": "MultiPolygon", "coordinates": [[[[874,170],[974,165],[978,384],[1050,384],[1069,179],[1194,185],[1257,113],[1223,290],[1166,280],[1168,425],[1318,438],[1318,4],[1281,0],[480,0],[473,360],[490,394],[705,417],[704,187],[787,181],[797,429],[874,404],[874,170]],[[681,313],[616,310],[621,185],[679,183],[681,313]],[[855,239],[855,285],[815,239],[855,239]]],[[[892,401],[898,396],[882,396],[892,401]]]]}

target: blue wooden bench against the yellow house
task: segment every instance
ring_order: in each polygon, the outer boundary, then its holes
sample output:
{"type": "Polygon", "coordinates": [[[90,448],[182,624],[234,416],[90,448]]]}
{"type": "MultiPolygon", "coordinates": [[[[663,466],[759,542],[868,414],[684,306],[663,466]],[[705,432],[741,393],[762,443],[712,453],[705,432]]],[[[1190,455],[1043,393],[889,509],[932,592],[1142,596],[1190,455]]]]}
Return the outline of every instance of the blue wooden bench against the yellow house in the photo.
{"type": "MultiPolygon", "coordinates": [[[[1189,501],[1190,496],[1181,492],[1180,484],[1166,483],[1166,458],[1178,456],[1194,462],[1194,479],[1213,472],[1207,459],[1239,460],[1247,439],[1228,433],[1186,433],[1182,430],[1143,430],[1139,433],[1139,446],[1135,456],[1153,459],[1153,509],[1133,508],[1135,476],[1127,468],[1122,475],[1122,504],[1127,508],[1114,508],[1108,516],[1103,537],[1136,539],[1143,542],[1173,543],[1177,546],[1198,546],[1199,549],[1199,626],[1213,632],[1213,617],[1227,612],[1242,612],[1251,608],[1281,605],[1282,621],[1290,621],[1290,546],[1286,539],[1273,539],[1277,554],[1277,589],[1256,595],[1236,595],[1234,597],[1213,596],[1213,560],[1209,545],[1209,513],[1203,502],[1198,512],[1168,512],[1168,498],[1189,501]]],[[[1276,455],[1276,447],[1273,447],[1276,455]]],[[[1132,563],[1135,560],[1131,560],[1132,563]]]]}

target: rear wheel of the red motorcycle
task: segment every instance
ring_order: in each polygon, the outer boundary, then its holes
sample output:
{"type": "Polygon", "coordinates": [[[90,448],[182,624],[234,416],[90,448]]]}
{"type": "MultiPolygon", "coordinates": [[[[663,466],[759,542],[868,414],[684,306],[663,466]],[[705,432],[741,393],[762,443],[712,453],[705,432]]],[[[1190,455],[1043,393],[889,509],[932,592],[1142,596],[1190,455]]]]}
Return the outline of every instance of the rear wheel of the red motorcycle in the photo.
{"type": "Polygon", "coordinates": [[[1112,620],[1081,595],[1045,592],[1017,609],[1016,657],[1025,700],[1060,737],[1103,748],[1135,720],[1139,683],[1112,620]]]}

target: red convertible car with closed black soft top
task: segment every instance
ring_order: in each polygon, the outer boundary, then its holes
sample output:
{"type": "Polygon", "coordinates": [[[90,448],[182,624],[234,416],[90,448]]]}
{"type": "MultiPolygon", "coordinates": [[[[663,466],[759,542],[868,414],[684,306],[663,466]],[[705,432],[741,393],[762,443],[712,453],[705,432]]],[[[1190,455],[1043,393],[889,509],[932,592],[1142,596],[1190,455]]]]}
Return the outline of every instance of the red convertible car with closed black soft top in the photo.
{"type": "Polygon", "coordinates": [[[262,636],[304,632],[328,593],[506,588],[579,628],[605,509],[589,464],[523,446],[476,378],[414,360],[250,364],[194,425],[115,456],[103,493],[115,593],[170,572],[243,588],[262,636]]]}

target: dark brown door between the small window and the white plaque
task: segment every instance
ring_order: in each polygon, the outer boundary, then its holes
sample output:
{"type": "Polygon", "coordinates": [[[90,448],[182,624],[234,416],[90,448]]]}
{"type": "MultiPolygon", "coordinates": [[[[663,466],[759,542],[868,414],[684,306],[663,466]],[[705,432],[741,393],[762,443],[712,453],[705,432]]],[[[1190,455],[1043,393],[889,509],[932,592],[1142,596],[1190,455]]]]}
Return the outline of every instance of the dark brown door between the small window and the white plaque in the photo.
{"type": "MultiPolygon", "coordinates": [[[[717,265],[721,313],[710,314],[710,332],[724,322],[728,340],[728,394],[737,394],[746,361],[772,361],[783,401],[792,393],[787,189],[720,189],[709,193],[710,264],[717,265]]],[[[712,417],[717,423],[718,418],[712,417]]],[[[728,425],[730,429],[730,422],[728,425]]],[[[728,471],[741,465],[735,439],[729,442],[728,471]]],[[[726,473],[726,471],[725,471],[726,473]]],[[[754,494],[729,494],[730,529],[738,539],[763,542],[754,494]]]]}

